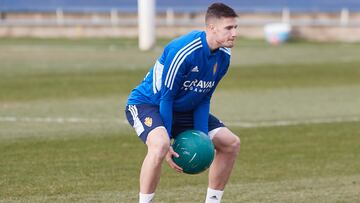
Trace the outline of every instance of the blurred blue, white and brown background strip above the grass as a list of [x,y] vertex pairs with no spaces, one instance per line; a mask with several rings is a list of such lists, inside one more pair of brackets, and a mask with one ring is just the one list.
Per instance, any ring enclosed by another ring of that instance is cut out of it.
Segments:
[[[140,1],[139,1],[140,2]],[[203,28],[214,1],[156,1],[156,36]],[[239,35],[263,38],[269,23],[288,23],[292,37],[321,41],[360,40],[357,0],[225,0],[238,12]],[[136,37],[135,0],[0,0],[0,37]]]

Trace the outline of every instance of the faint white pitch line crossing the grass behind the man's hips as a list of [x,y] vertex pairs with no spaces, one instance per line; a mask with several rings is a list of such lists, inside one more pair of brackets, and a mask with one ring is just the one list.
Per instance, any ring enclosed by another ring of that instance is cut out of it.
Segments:
[[[360,116],[350,117],[333,117],[333,118],[313,118],[304,120],[274,120],[274,121],[226,121],[226,125],[241,127],[241,128],[256,128],[256,127],[272,127],[272,126],[290,126],[302,124],[321,124],[321,123],[343,123],[343,122],[359,122]],[[14,116],[0,116],[0,122],[27,122],[27,123],[118,123],[126,124],[126,120],[121,119],[89,119],[77,117],[14,117]]]

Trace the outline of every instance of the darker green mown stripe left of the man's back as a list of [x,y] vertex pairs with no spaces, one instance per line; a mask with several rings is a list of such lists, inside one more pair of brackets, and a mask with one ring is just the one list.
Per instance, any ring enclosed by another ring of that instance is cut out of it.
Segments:
[[[90,71],[78,73],[44,73],[3,78],[1,100],[67,99],[127,94],[146,71]],[[121,84],[121,85],[119,85]]]

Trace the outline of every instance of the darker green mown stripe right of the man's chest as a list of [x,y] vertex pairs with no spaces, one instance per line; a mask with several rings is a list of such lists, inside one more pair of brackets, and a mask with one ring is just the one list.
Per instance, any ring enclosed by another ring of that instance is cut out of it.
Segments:
[[281,64],[233,68],[225,89],[274,89],[358,85],[359,63]]

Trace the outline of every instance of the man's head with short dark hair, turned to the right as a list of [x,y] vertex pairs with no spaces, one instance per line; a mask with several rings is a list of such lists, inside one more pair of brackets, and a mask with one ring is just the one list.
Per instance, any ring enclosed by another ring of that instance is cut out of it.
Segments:
[[214,3],[208,7],[205,24],[210,48],[234,46],[237,17],[236,12],[223,3]]

